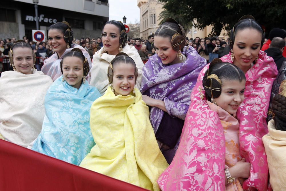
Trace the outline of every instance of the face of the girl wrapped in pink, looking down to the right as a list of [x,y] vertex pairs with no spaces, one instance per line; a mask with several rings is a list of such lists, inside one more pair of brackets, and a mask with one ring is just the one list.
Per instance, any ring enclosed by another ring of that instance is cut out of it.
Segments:
[[244,100],[245,80],[222,80],[221,94],[215,99],[217,105],[230,114],[235,114]]

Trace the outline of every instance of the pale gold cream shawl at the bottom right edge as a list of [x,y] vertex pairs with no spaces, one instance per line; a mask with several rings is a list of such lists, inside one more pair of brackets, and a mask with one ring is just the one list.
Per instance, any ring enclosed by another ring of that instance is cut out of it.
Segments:
[[273,191],[286,190],[286,131],[275,129],[272,119],[268,122],[269,133],[262,137]]

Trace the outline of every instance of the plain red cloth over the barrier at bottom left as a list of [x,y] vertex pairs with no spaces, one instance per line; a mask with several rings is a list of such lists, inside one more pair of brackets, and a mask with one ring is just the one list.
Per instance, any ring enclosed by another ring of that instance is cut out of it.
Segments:
[[0,139],[0,190],[145,190]]

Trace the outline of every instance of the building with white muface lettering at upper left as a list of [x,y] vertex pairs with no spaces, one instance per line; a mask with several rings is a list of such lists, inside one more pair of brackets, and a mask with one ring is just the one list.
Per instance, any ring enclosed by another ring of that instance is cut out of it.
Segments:
[[[2,0],[0,13],[0,39],[27,36],[32,40],[32,29],[36,29],[32,0]],[[70,24],[75,38],[97,38],[109,19],[109,4],[108,0],[39,0],[38,17],[46,38],[48,27],[61,21]]]

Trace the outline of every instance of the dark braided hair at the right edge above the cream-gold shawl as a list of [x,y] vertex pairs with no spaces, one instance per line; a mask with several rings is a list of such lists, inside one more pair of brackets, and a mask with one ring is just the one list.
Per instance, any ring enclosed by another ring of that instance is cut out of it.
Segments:
[[272,100],[272,110],[275,113],[275,129],[286,131],[286,97],[276,94]]

